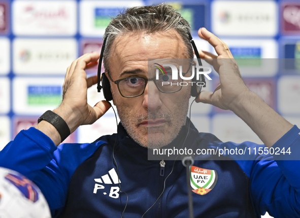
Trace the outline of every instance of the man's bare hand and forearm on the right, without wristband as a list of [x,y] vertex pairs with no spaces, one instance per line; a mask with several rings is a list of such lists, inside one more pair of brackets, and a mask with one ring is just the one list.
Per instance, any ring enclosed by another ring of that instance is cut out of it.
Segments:
[[201,58],[218,72],[220,84],[214,90],[202,91],[196,102],[229,109],[241,117],[267,147],[271,147],[293,125],[263,102],[245,85],[239,67],[227,45],[206,28],[198,31],[199,37],[214,46],[218,56],[200,51]]

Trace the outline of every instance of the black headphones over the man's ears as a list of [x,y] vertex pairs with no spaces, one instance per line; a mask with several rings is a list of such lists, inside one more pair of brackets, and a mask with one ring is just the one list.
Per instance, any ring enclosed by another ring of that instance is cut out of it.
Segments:
[[[189,32],[187,34],[188,34],[188,37],[189,37],[189,41],[190,41],[190,43],[191,43],[191,45],[194,49],[195,55],[197,57],[198,65],[202,66],[200,55],[198,53],[195,42],[193,41],[193,38],[192,38],[191,34]],[[104,41],[103,41],[103,45],[102,45],[101,53],[100,53],[100,58],[99,58],[98,71],[97,71],[97,75],[98,75],[97,90],[98,90],[98,92],[101,92],[101,89],[103,89],[103,95],[104,95],[104,98],[106,99],[106,101],[112,101],[113,100],[113,95],[112,95],[112,92],[111,92],[110,81],[109,81],[109,79],[108,79],[108,77],[106,76],[105,73],[103,73],[102,77],[101,77],[101,67],[102,67],[103,53],[104,53],[104,50],[105,50],[107,38],[108,38],[108,36],[106,36]],[[200,69],[200,72],[203,72],[203,68]],[[102,82],[102,86],[100,85],[100,82]],[[193,84],[195,84],[195,85],[193,85]],[[201,85],[199,85],[199,84],[201,84]],[[206,87],[205,76],[203,74],[200,74],[198,80],[196,79],[196,76],[194,76],[192,78],[191,96],[197,98],[198,95],[201,92],[202,86]]]

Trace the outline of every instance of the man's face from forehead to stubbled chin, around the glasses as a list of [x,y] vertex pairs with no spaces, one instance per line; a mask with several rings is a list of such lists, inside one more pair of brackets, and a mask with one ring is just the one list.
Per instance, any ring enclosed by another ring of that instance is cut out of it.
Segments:
[[[180,35],[170,30],[164,33],[130,33],[115,39],[110,51],[112,79],[148,74],[148,58],[188,58]],[[185,124],[190,98],[190,86],[174,93],[162,93],[153,81],[143,95],[124,98],[116,84],[111,83],[113,101],[129,136],[140,145],[159,148],[172,142]]]

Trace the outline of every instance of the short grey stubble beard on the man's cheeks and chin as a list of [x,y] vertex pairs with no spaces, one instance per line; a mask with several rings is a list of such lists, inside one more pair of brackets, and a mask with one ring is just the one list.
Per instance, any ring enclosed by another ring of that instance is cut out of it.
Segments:
[[[114,92],[112,93],[114,97]],[[118,115],[127,134],[139,145],[155,149],[170,144],[178,136],[186,122],[189,98],[190,89],[186,91],[185,96],[174,102],[174,105],[177,105],[177,110],[173,113],[159,108],[155,111],[148,109],[146,114],[136,114],[130,110],[130,105],[116,101],[116,98],[114,98],[114,103],[117,106]],[[178,107],[178,105],[181,105],[181,107]],[[165,119],[166,125],[163,125],[164,127],[149,128],[148,126],[141,126],[141,123],[148,119]],[[152,136],[149,137],[149,134]]]

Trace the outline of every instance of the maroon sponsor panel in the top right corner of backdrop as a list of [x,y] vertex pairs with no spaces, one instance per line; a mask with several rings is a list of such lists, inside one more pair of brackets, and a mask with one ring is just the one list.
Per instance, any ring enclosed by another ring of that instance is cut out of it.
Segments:
[[300,33],[300,4],[285,3],[282,5],[282,28],[283,33]]

